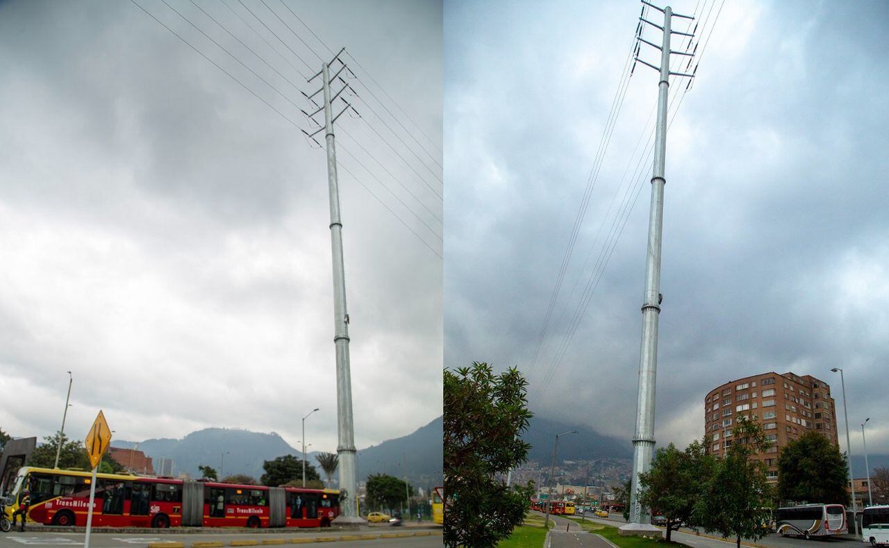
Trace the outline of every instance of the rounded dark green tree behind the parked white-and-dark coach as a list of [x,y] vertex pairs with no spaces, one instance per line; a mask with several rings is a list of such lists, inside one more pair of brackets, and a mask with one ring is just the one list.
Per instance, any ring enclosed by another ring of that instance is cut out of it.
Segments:
[[778,457],[778,498],[849,505],[849,468],[839,447],[817,431],[790,441]]

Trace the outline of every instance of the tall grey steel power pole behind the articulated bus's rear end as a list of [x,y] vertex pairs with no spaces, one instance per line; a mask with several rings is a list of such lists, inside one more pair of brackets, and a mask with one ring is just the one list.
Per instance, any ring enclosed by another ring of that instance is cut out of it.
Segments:
[[[358,522],[358,488],[356,481],[356,448],[355,426],[352,422],[352,375],[348,362],[348,311],[346,310],[346,281],[342,260],[342,221],[340,220],[340,188],[336,173],[336,146],[333,139],[333,123],[352,106],[348,104],[340,94],[349,86],[340,78],[340,73],[346,69],[346,64],[340,60],[340,55],[346,48],[340,49],[331,62],[323,63],[321,71],[309,78],[309,82],[316,77],[321,77],[321,89],[307,95],[309,101],[318,93],[324,94],[324,105],[315,112],[305,114],[312,118],[324,111],[324,126],[315,133],[306,133],[314,138],[316,133],[324,131],[324,141],[327,149],[327,184],[330,191],[331,208],[331,247],[333,255],[333,343],[336,346],[336,399],[337,399],[337,455],[340,457],[337,470],[340,472],[340,494],[345,495],[344,503],[340,504],[342,510],[341,521]],[[338,63],[339,69],[331,76],[331,66]],[[342,86],[336,93],[331,93],[332,82],[342,82]],[[345,107],[339,114],[333,114],[333,102],[337,99],[345,103]],[[354,109],[352,109],[354,110]],[[345,492],[345,493],[343,493]]]

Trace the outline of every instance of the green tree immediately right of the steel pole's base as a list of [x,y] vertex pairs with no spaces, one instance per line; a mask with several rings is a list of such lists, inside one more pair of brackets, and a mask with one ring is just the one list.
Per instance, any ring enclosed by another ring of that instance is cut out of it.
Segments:
[[667,518],[667,542],[680,523],[695,525],[694,504],[716,465],[704,449],[708,443],[694,440],[685,451],[672,443],[661,447],[651,469],[639,474],[639,503]]

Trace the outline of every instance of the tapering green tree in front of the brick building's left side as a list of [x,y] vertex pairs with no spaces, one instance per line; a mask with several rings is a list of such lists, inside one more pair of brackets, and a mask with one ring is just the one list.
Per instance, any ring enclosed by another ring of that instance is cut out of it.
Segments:
[[695,523],[723,538],[733,536],[737,548],[741,548],[741,538],[758,540],[768,533],[764,523],[772,490],[765,479],[765,464],[750,456],[771,444],[757,423],[738,416],[732,445],[724,458],[716,460],[694,505]]

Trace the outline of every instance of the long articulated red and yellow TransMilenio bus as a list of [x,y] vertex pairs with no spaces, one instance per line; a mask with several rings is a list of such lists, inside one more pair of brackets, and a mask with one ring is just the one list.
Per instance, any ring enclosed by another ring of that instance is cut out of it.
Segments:
[[[7,512],[26,488],[28,520],[84,527],[92,472],[23,466]],[[97,474],[93,527],[330,527],[340,515],[339,491],[269,488],[188,479]]]

